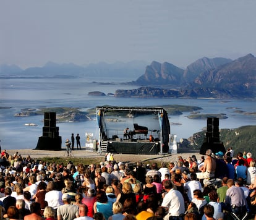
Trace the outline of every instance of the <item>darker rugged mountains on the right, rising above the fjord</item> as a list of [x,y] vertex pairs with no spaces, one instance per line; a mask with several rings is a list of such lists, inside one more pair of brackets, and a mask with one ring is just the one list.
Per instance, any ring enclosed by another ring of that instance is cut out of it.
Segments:
[[[115,96],[176,98],[255,98],[256,57],[248,54],[232,61],[203,57],[185,70],[153,61],[135,82],[137,90],[117,90]],[[147,86],[147,88],[145,88]]]

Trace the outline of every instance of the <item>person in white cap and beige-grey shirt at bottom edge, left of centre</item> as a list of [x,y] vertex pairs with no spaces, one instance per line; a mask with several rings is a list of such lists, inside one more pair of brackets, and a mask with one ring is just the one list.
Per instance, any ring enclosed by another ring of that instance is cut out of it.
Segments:
[[59,208],[57,209],[58,220],[62,220],[62,219],[73,220],[76,217],[79,217],[78,207],[70,204],[71,197],[69,196],[69,194],[64,193],[62,195],[62,201],[64,205],[59,206]]

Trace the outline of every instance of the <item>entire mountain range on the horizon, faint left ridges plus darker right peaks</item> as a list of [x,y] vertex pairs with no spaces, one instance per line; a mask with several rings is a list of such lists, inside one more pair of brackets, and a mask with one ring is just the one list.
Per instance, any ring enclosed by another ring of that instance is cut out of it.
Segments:
[[137,80],[127,82],[142,86],[136,90],[116,90],[114,96],[177,97],[177,98],[255,98],[256,58],[252,54],[236,60],[223,57],[203,57],[186,69],[169,62],[144,61],[106,64],[56,64],[21,69],[18,66],[0,65],[0,78],[111,78],[129,75]]

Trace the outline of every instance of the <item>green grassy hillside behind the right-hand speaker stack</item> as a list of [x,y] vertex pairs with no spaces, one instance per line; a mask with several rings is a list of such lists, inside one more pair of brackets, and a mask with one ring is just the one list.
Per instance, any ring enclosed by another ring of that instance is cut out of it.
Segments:
[[[189,139],[190,147],[200,149],[204,137],[205,132],[195,133],[193,138]],[[226,149],[233,147],[235,154],[247,151],[256,158],[256,125],[242,126],[237,129],[221,129],[220,141]]]

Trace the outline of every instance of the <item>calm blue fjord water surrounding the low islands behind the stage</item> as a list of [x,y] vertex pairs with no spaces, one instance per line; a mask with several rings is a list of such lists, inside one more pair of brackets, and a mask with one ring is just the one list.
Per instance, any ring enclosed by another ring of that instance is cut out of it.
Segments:
[[[107,77],[72,78],[72,79],[1,79],[0,80],[0,140],[2,149],[33,149],[38,137],[42,135],[43,116],[15,117],[21,109],[73,107],[80,111],[96,106],[164,106],[167,104],[182,104],[202,108],[200,113],[224,113],[228,119],[220,120],[220,129],[234,129],[242,125],[256,125],[256,117],[234,112],[236,109],[244,112],[255,112],[255,101],[252,100],[220,100],[220,99],[167,99],[167,98],[115,98],[114,96],[88,96],[89,91],[102,91],[105,94],[114,93],[117,89],[137,88],[132,85],[119,84],[134,79]],[[103,83],[92,83],[103,82]],[[111,83],[107,83],[111,82]],[[10,108],[8,108],[10,107]],[[236,109],[235,109],[236,108]],[[179,116],[170,116],[171,133],[179,138],[188,138],[195,132],[206,127],[207,121],[188,119],[190,112]],[[38,126],[25,126],[34,123]],[[177,125],[181,124],[181,125]],[[143,124],[140,124],[143,125]],[[85,145],[85,132],[98,137],[96,121],[58,123],[62,145],[71,133],[79,133],[81,143]],[[122,129],[122,128],[120,128]]]

